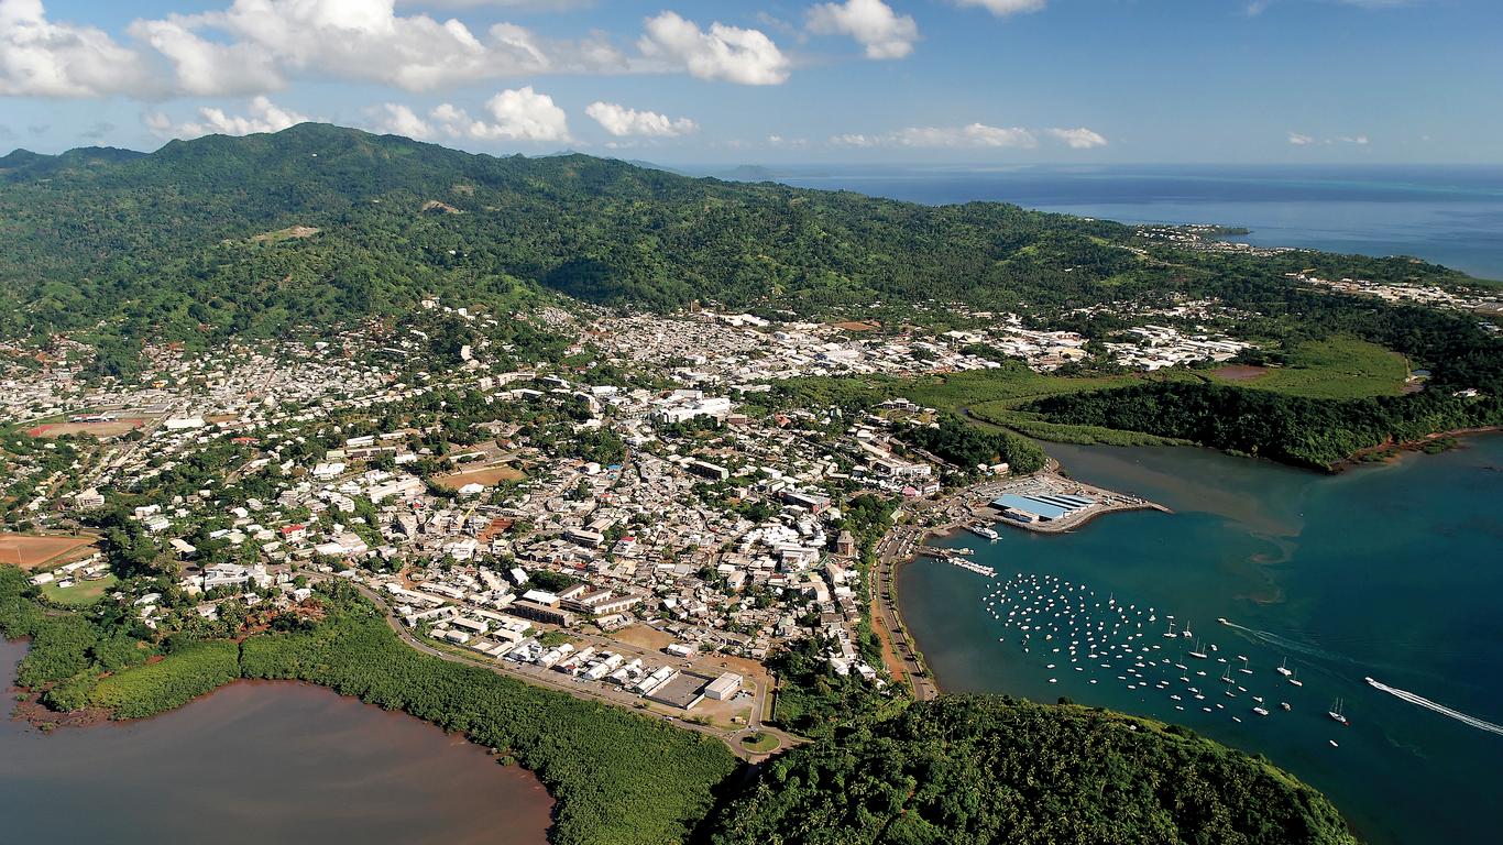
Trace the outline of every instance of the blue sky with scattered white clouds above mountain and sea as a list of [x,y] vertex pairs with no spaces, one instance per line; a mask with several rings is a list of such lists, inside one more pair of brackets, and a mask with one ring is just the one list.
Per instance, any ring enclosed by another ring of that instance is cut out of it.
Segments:
[[0,0],[0,150],[1503,164],[1503,0]]

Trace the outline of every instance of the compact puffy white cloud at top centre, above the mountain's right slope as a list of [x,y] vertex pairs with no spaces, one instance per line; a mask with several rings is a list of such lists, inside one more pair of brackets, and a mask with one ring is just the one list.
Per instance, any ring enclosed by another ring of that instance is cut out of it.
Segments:
[[646,20],[646,33],[637,41],[637,47],[643,56],[679,66],[700,80],[744,86],[782,84],[788,80],[788,59],[762,30],[717,21],[705,32],[694,21],[663,12]]

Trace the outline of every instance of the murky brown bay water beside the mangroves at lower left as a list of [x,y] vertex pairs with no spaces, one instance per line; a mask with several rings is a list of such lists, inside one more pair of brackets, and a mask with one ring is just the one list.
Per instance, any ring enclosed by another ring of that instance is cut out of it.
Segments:
[[[0,641],[0,687],[23,654]],[[543,845],[552,809],[479,746],[308,684],[47,735],[0,720],[0,842]]]

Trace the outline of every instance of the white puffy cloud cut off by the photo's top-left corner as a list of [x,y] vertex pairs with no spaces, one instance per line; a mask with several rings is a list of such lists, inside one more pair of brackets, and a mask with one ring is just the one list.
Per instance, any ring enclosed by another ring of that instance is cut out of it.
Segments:
[[141,56],[104,30],[53,23],[41,0],[0,0],[0,95],[104,96],[149,86]]

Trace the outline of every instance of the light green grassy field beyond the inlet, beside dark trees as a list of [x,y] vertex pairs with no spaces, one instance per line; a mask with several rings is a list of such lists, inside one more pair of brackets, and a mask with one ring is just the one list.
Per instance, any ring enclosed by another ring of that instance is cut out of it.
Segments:
[[1270,367],[1257,377],[1222,377],[1240,388],[1303,395],[1309,398],[1365,398],[1398,395],[1408,377],[1404,356],[1354,337],[1333,337],[1294,349],[1284,367]]

